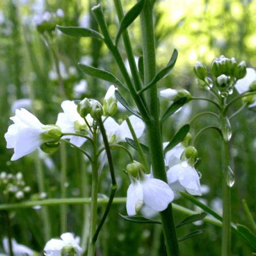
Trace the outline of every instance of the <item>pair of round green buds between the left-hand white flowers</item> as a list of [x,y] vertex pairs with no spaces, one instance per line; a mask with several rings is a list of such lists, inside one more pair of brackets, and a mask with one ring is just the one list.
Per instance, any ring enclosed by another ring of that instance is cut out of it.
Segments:
[[85,118],[86,115],[90,114],[93,119],[99,119],[103,115],[103,109],[100,102],[92,98],[84,98],[77,105],[77,112],[81,115],[82,118]]

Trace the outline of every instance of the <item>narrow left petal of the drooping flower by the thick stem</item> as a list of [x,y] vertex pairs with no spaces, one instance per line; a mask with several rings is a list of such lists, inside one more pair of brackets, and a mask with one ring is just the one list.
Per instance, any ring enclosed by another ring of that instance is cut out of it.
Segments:
[[127,190],[126,210],[129,216],[136,214],[136,204],[143,201],[143,190],[141,183],[131,183]]

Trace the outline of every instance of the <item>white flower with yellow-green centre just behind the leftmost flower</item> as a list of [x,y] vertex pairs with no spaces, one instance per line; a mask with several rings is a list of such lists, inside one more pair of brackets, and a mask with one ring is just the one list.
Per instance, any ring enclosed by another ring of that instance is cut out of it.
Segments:
[[[77,105],[75,102],[63,101],[61,103],[61,108],[63,109],[64,113],[59,113],[56,125],[61,128],[63,133],[89,133],[88,126],[77,112]],[[92,125],[93,118],[89,114],[86,115],[86,120],[88,121],[89,125]],[[73,135],[65,135],[63,138],[70,139],[70,142],[75,144],[77,147],[81,147],[86,141],[85,138]]]

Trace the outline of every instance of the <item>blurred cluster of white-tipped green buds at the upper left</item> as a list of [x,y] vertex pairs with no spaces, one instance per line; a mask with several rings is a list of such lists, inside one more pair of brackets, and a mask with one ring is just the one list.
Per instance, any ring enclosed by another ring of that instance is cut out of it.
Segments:
[[40,33],[52,32],[55,30],[56,24],[61,24],[64,18],[63,10],[58,9],[56,13],[46,11],[42,16],[35,18],[36,28]]

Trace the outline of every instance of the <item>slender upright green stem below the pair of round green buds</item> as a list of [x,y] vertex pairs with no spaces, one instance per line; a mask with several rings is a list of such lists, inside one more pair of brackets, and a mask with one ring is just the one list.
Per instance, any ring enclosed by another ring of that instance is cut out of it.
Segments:
[[94,256],[96,243],[93,236],[97,226],[97,201],[98,201],[98,157],[97,157],[97,129],[93,130],[93,160],[92,160],[92,201],[90,203],[90,232],[88,256]]

